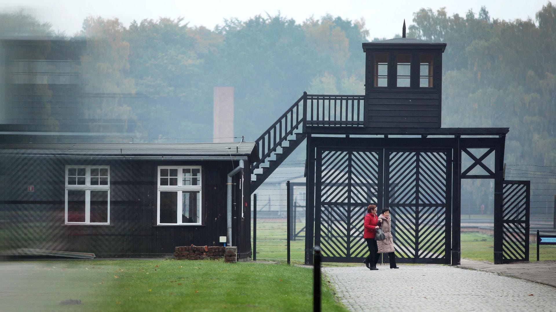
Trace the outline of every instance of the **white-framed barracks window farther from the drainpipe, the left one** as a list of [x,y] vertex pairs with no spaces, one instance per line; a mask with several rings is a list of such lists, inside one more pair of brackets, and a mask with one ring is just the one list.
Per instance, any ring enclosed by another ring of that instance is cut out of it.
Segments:
[[110,166],[66,166],[66,224],[110,224]]

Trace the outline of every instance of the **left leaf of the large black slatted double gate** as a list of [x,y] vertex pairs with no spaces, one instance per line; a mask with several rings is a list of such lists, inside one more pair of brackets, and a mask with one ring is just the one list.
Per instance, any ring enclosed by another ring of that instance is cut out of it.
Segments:
[[383,150],[318,150],[315,243],[323,261],[355,262],[366,253],[363,217],[382,200]]

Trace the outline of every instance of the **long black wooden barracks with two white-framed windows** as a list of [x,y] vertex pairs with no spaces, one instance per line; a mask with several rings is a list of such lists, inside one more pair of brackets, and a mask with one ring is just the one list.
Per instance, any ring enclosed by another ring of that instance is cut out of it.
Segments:
[[249,258],[256,159],[249,142],[0,144],[0,252],[157,256],[224,240]]

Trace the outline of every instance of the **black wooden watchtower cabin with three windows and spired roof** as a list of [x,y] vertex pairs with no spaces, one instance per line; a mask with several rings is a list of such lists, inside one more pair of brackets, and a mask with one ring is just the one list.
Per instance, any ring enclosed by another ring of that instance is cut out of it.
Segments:
[[405,33],[363,43],[365,127],[440,128],[445,49],[445,43],[408,39]]

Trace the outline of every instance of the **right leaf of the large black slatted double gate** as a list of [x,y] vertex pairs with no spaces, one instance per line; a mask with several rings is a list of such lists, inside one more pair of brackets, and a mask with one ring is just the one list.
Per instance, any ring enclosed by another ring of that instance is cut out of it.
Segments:
[[386,150],[384,207],[400,263],[450,263],[451,150]]

